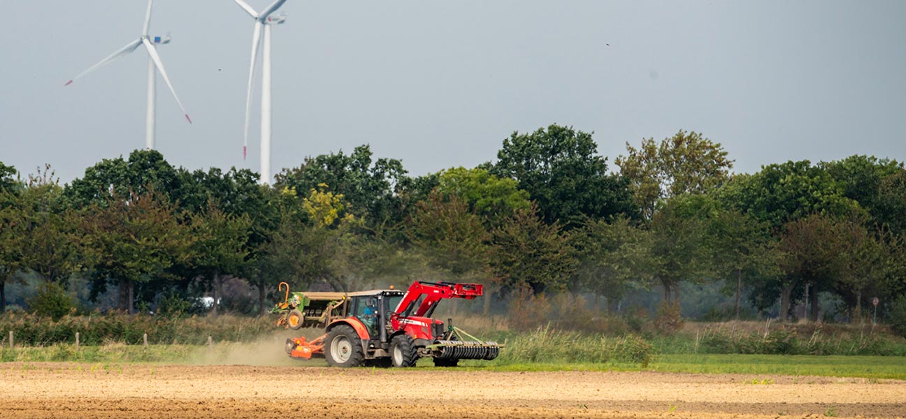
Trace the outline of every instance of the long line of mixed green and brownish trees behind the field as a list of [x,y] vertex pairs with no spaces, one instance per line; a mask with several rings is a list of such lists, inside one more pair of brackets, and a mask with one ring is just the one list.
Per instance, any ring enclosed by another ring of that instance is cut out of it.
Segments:
[[23,178],[0,163],[0,309],[5,285],[25,275],[39,292],[74,278],[92,298],[116,290],[129,312],[217,300],[231,279],[257,290],[259,312],[281,281],[477,281],[496,295],[591,293],[610,309],[651,289],[679,308],[680,283],[720,281],[737,316],[745,296],[781,319],[800,302],[817,319],[828,293],[853,319],[873,298],[906,295],[900,162],[735,174],[718,142],[680,130],[627,143],[614,163],[591,133],[558,125],[514,132],[493,162],[426,176],[368,146],[305,158],[273,186],[247,169],[173,167],[153,150],[101,160],[63,186],[50,167]]

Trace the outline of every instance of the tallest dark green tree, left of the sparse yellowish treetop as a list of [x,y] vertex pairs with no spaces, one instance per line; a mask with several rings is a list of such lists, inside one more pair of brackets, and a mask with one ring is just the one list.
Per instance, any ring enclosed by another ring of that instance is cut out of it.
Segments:
[[609,175],[597,148],[592,134],[558,125],[514,132],[497,152],[492,173],[516,179],[547,224],[559,221],[570,229],[581,225],[583,216],[633,216],[628,179]]

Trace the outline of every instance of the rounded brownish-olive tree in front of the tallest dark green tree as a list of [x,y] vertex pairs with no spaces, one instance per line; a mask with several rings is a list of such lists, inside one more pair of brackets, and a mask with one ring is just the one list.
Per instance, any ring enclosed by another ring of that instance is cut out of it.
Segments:
[[573,250],[560,225],[545,224],[535,205],[516,210],[491,236],[491,269],[506,289],[566,289],[576,267]]

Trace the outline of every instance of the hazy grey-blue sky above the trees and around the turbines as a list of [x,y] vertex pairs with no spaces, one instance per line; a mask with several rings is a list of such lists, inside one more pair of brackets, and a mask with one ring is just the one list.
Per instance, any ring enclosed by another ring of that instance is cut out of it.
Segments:
[[[248,0],[261,10],[269,0]],[[63,87],[141,32],[144,0],[0,0],[0,161],[61,181],[144,147],[147,54]],[[274,28],[272,171],[369,144],[411,175],[493,161],[550,124],[598,151],[680,129],[753,173],[786,160],[906,159],[906,2],[288,0]],[[253,21],[229,0],[157,0],[157,148],[259,170],[242,141]],[[260,74],[260,73],[259,73]],[[257,78],[260,79],[260,78]],[[260,80],[258,80],[260,83]]]

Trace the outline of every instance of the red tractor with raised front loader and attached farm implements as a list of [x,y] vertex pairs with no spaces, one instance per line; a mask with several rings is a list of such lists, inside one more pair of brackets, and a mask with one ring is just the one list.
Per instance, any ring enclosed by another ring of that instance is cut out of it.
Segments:
[[[280,284],[283,290],[285,283]],[[324,357],[333,367],[413,367],[431,357],[436,367],[456,367],[460,359],[491,360],[500,354],[496,342],[483,341],[453,326],[431,319],[439,300],[474,300],[481,284],[412,283],[409,290],[359,292],[293,292],[286,285],[277,325],[289,329],[323,329],[307,340],[286,339],[290,357]]]

